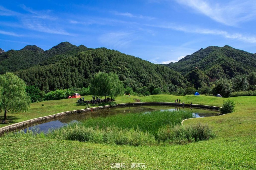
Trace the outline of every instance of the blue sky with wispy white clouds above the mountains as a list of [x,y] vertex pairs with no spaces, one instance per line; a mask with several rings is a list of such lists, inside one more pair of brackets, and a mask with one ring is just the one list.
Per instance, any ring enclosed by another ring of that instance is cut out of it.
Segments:
[[212,45],[256,53],[255,20],[255,0],[3,1],[0,48],[68,41],[170,63]]

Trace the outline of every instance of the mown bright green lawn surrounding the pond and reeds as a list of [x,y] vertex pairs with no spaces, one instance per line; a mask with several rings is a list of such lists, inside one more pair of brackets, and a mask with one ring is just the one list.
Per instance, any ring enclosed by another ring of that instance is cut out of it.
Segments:
[[[180,98],[185,103],[214,106],[221,106],[224,100],[208,96],[169,95],[134,98],[167,102]],[[236,103],[235,112],[184,122],[190,124],[200,121],[212,125],[217,137],[208,141],[189,145],[130,147],[25,136],[6,137],[0,139],[0,169],[112,169],[110,163],[125,163],[127,167],[131,163],[145,163],[146,169],[255,169],[256,97],[230,99]],[[26,118],[29,118],[29,113],[43,116],[60,112],[56,109],[65,111],[84,108],[76,106],[73,101],[75,102],[74,99],[72,102],[65,99],[43,102],[45,108],[41,107],[41,103],[34,103]],[[116,100],[118,103],[129,101],[133,101],[133,96]],[[54,106],[56,104],[60,106]],[[19,114],[14,116],[25,120]]]

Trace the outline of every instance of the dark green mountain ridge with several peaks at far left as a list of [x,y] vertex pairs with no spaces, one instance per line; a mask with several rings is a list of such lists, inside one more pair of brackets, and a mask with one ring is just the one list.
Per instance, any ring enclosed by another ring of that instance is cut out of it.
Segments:
[[0,53],[0,74],[27,69],[37,64],[55,63],[86,50],[88,48],[83,45],[77,47],[69,42],[62,42],[46,51],[35,45],[27,45],[21,50],[9,50]]

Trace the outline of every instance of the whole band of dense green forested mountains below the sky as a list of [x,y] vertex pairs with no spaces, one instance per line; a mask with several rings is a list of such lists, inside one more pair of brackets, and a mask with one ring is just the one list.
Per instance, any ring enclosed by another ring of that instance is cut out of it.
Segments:
[[[116,73],[125,92],[135,95],[188,95],[199,91],[228,97],[254,95],[256,89],[256,55],[230,46],[201,48],[170,64],[153,64],[116,50],[92,49],[68,42],[46,51],[28,45],[0,54],[0,74],[14,72],[26,82],[31,95],[38,90],[47,93],[88,87],[93,75],[100,71]],[[247,90],[253,92],[231,94]],[[39,91],[33,101],[43,98],[44,93]],[[62,92],[63,96],[69,94]]]

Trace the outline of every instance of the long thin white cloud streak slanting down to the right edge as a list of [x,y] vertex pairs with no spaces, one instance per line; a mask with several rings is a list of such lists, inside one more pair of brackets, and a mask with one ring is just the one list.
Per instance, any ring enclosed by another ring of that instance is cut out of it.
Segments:
[[208,34],[208,35],[220,35],[225,38],[229,39],[236,39],[247,43],[256,43],[256,36],[252,35],[243,35],[241,33],[228,33],[227,31],[217,30],[217,29],[204,29],[204,28],[197,28],[197,27],[185,27],[175,25],[173,23],[170,24],[159,24],[159,25],[148,25],[151,27],[158,27],[158,28],[165,28],[165,29],[172,29],[177,31],[183,31],[187,33],[197,33],[197,34]]

